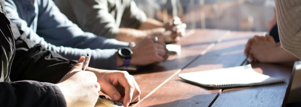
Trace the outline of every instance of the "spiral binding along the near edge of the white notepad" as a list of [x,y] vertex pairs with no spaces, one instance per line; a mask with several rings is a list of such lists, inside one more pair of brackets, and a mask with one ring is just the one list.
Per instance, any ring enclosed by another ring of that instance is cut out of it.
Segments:
[[255,83],[250,83],[250,84],[221,84],[221,85],[213,85],[213,88],[218,89],[218,88],[229,88],[229,87],[245,87],[245,86],[255,86],[255,85],[267,85],[267,84],[273,84],[273,83],[278,83],[278,82],[284,82],[286,80],[285,77],[278,78],[276,80],[265,80],[263,82],[255,82]]

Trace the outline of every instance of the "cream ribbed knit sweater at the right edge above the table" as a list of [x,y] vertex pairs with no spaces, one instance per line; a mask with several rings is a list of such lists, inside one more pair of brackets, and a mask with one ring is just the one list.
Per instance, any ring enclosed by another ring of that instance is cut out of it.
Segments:
[[301,59],[301,0],[275,0],[281,46]]

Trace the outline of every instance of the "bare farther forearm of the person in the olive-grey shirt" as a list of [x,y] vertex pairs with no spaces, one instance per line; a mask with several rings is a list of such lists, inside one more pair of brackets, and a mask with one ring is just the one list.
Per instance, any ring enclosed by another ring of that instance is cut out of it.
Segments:
[[146,22],[142,23],[139,26],[139,30],[147,30],[147,29],[153,29],[153,28],[161,28],[164,24],[158,20],[155,19],[147,19]]

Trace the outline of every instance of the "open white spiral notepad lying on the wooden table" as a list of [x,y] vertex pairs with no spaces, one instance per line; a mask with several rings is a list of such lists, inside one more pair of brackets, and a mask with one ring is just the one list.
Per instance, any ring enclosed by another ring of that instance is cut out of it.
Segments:
[[251,64],[216,70],[181,73],[179,76],[189,82],[214,87],[228,88],[238,86],[265,85],[284,82],[286,78],[275,78],[257,73]]

